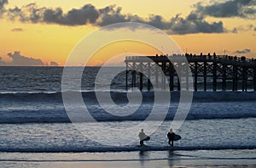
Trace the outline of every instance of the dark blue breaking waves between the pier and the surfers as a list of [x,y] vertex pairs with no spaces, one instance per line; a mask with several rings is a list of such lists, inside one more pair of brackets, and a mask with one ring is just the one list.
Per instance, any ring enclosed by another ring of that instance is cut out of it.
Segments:
[[[107,91],[102,92],[108,93]],[[70,98],[73,98],[73,94],[77,92],[68,93],[70,93]],[[128,103],[127,92],[111,91],[110,93],[115,104],[124,106]],[[129,97],[132,98],[132,92],[129,94]],[[96,92],[81,92],[84,104],[97,121],[145,120],[154,105],[154,92],[142,92],[142,94],[143,102],[136,112],[131,115],[118,116],[108,114],[102,109],[97,102]],[[179,94],[180,92],[171,93],[172,101],[166,120],[173,120],[177,111]],[[254,104],[256,92],[194,92],[193,94],[193,104],[186,120],[256,117],[256,105]],[[161,115],[161,111],[157,112],[152,120],[159,120],[159,115]],[[61,92],[0,93],[0,124],[59,122],[70,122],[63,105]]]

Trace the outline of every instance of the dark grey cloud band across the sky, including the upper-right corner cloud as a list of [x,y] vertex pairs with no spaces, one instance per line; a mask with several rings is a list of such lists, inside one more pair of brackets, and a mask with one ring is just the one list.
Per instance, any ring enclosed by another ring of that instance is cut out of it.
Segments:
[[[8,3],[0,0],[0,8]],[[197,3],[195,9],[186,17],[180,14],[165,20],[160,15],[151,14],[147,19],[136,14],[122,14],[122,8],[110,5],[105,8],[96,8],[92,4],[85,4],[82,8],[73,8],[64,13],[61,8],[39,8],[36,3],[30,3],[22,8],[6,9],[9,20],[21,22],[57,24],[67,26],[95,25],[104,26],[119,22],[139,22],[153,25],[168,34],[195,34],[195,33],[224,33],[222,21],[208,22],[207,16],[212,17],[255,17],[255,1],[230,0],[224,3],[203,4]],[[237,32],[234,29],[233,32]]]

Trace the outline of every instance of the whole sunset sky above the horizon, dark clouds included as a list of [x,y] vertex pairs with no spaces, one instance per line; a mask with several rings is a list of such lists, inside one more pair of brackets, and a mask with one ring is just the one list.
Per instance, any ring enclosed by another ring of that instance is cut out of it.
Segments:
[[[0,0],[0,65],[63,65],[84,36],[124,21],[165,31],[183,52],[225,50],[256,58],[255,0]],[[134,46],[123,42],[119,48]],[[104,54],[117,54],[112,50],[100,52],[102,60],[91,65],[102,64]]]

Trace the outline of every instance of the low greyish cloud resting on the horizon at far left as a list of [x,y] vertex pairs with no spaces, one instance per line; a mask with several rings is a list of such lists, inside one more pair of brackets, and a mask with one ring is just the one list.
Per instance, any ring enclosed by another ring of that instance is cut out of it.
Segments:
[[14,53],[7,54],[12,61],[6,62],[6,65],[14,66],[37,66],[44,65],[44,62],[41,59],[28,58],[26,56],[20,55],[20,52],[15,51]]

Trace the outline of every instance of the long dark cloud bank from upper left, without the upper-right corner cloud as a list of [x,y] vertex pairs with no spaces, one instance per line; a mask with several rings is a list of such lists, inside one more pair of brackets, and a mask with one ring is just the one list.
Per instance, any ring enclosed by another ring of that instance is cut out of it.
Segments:
[[82,8],[73,8],[64,13],[61,8],[39,8],[36,3],[29,3],[22,8],[9,8],[9,20],[21,22],[45,23],[57,25],[96,25],[104,26],[119,22],[140,22],[153,25],[169,34],[191,33],[222,33],[222,21],[207,22],[205,17],[191,12],[183,18],[180,14],[165,20],[160,15],[150,14],[148,18],[141,18],[136,14],[122,14],[122,8],[109,5],[105,8],[96,8],[92,4],[85,4]]

